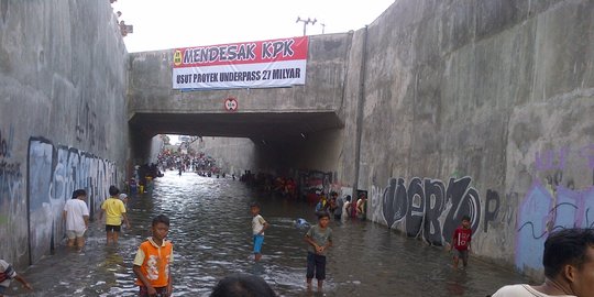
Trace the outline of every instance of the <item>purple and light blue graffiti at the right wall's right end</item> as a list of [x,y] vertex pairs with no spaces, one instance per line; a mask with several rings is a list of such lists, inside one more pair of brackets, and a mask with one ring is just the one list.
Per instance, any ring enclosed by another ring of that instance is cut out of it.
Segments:
[[521,271],[542,266],[542,246],[549,232],[594,227],[594,187],[575,189],[573,179],[563,176],[570,160],[592,172],[594,145],[548,150],[535,156],[535,168],[542,179],[535,178],[517,216],[515,264]]

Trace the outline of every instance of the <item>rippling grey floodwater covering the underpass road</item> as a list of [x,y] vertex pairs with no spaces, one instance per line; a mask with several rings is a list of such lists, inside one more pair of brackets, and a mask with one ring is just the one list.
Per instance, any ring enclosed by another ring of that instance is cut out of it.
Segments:
[[[249,205],[258,201],[266,230],[263,257],[253,262]],[[33,293],[13,282],[10,296],[136,296],[132,261],[150,235],[151,220],[170,218],[174,243],[174,296],[208,296],[218,279],[242,272],[263,277],[279,296],[486,296],[506,284],[526,283],[521,275],[471,255],[469,267],[454,271],[442,248],[407,239],[365,221],[332,221],[334,246],[328,253],[323,290],[308,292],[306,229],[315,223],[314,206],[258,195],[239,180],[167,172],[155,179],[152,195],[129,201],[131,228],[117,246],[106,246],[102,222],[92,222],[87,245],[77,252],[62,245],[22,275]]]

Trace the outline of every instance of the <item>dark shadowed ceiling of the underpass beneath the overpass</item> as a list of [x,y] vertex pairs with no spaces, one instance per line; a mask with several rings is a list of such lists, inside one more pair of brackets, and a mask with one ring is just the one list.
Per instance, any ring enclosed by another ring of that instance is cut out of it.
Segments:
[[343,124],[336,112],[234,112],[135,113],[130,120],[130,125],[146,136],[184,134],[284,142],[307,138],[308,134],[318,131],[339,129]]

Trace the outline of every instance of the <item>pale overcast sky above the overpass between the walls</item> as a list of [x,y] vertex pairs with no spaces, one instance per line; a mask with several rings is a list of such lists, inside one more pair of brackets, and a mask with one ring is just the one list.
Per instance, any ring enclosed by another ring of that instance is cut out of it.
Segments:
[[[349,32],[371,24],[394,0],[117,0],[113,11],[134,26],[128,52]],[[324,24],[322,26],[321,24]]]

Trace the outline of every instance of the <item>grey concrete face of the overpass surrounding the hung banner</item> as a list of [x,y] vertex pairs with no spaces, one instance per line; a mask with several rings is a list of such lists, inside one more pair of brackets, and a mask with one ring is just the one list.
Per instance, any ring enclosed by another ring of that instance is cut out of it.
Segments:
[[173,50],[130,54],[130,117],[133,113],[228,113],[234,97],[241,112],[320,112],[342,103],[349,34],[310,37],[307,84],[292,88],[182,91],[172,88]]

